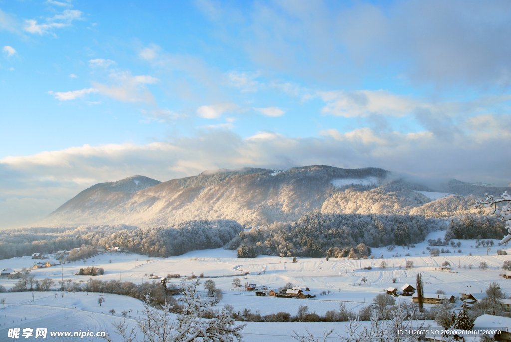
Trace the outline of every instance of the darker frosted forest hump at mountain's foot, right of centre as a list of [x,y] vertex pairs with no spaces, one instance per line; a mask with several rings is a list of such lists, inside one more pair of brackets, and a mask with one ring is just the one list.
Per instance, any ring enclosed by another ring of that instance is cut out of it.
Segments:
[[330,257],[345,257],[353,248],[356,257],[364,257],[370,250],[363,252],[360,244],[409,245],[424,241],[428,232],[440,227],[444,227],[444,221],[418,215],[312,213],[296,222],[243,231],[226,248],[238,248],[239,257],[259,254],[321,257],[327,256],[328,250]]

